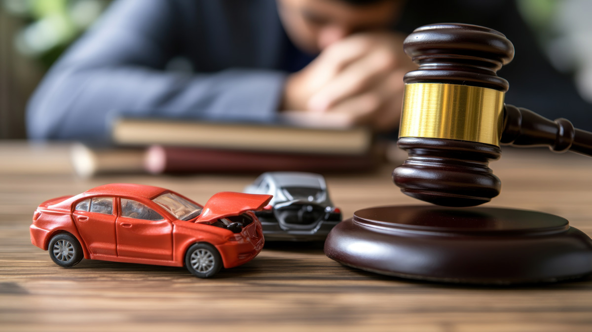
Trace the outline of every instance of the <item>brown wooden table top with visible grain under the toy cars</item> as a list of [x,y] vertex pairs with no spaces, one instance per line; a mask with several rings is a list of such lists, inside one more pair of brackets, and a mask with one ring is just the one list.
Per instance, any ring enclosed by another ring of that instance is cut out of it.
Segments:
[[[30,242],[40,202],[111,182],[146,183],[205,202],[253,175],[72,175],[64,146],[0,142],[0,331],[592,331],[592,278],[475,287],[415,282],[339,265],[322,244],[266,244],[252,262],[198,279],[179,267],[83,260],[55,265]],[[392,184],[394,165],[327,175],[344,215],[418,204]],[[561,215],[592,235],[592,159],[504,150],[491,207]]]

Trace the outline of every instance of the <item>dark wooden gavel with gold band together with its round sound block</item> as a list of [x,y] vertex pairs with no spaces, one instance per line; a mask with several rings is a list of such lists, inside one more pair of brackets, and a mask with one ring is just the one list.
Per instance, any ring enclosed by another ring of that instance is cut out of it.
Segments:
[[392,172],[404,194],[435,205],[374,207],[337,225],[325,253],[385,275],[485,284],[552,282],[592,272],[592,240],[552,214],[473,208],[501,184],[488,167],[500,144],[546,145],[592,154],[592,134],[504,105],[497,76],[514,57],[498,31],[468,24],[416,29],[406,74],[398,146],[408,159]]

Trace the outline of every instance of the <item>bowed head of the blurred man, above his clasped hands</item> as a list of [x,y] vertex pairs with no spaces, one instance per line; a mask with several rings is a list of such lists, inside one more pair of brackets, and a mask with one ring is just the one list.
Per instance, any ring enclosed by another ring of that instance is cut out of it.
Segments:
[[318,53],[343,37],[385,30],[404,0],[277,0],[288,36],[300,49]]

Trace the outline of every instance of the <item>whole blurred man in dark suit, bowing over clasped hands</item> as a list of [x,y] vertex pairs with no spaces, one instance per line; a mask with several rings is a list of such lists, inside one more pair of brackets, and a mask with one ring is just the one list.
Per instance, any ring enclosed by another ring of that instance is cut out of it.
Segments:
[[[442,21],[497,28],[517,54],[532,49],[529,62],[517,59],[522,65],[510,75],[516,81],[502,73],[512,87],[555,75],[512,17],[512,2],[441,2],[117,0],[41,83],[29,105],[28,133],[105,140],[115,117],[271,122],[285,110],[393,130],[403,75],[414,68],[397,30]],[[524,91],[526,105],[520,98],[517,104],[547,115],[537,108],[540,88],[536,95]]]

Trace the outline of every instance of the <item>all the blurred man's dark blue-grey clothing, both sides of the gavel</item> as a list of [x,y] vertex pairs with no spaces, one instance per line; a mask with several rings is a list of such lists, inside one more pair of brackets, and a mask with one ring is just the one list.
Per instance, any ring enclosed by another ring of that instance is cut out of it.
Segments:
[[[411,0],[394,28],[445,21],[513,41],[514,62],[500,70],[507,102],[592,128],[590,106],[540,56],[513,2]],[[271,122],[288,73],[312,59],[287,38],[275,0],[117,0],[38,87],[28,134],[107,140],[111,121],[127,116]]]

